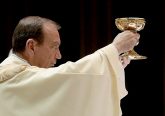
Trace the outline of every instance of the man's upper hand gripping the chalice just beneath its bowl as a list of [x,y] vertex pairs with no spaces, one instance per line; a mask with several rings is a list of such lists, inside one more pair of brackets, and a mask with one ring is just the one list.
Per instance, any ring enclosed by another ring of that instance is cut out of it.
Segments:
[[123,31],[119,33],[112,44],[114,44],[119,52],[119,54],[130,51],[139,42],[140,35],[132,31]]

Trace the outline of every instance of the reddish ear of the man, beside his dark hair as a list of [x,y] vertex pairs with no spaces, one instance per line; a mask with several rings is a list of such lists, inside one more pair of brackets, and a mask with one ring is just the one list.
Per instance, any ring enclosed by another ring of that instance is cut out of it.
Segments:
[[34,55],[35,46],[37,45],[37,42],[34,39],[28,39],[26,41],[26,51],[31,56]]

